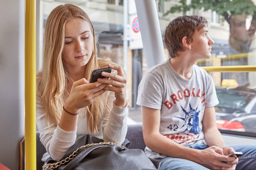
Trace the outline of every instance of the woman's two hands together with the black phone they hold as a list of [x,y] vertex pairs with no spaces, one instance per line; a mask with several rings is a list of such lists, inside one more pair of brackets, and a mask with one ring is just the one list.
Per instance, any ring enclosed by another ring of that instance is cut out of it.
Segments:
[[[111,69],[117,70],[117,74],[112,74]],[[97,69],[91,75],[90,82],[85,78],[73,82],[65,103],[66,109],[77,113],[80,108],[90,105],[96,97],[102,95],[106,90],[115,92],[116,106],[126,106],[126,77],[121,66],[109,64],[109,67]]]

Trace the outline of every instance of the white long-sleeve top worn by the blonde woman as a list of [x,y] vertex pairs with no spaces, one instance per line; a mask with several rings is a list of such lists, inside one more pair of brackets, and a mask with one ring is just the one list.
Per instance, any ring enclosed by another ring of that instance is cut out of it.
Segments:
[[[103,138],[104,141],[121,144],[124,142],[127,132],[128,102],[125,108],[115,106],[113,103],[115,100],[114,93],[106,92],[108,93],[108,104],[113,107],[110,112],[101,110],[104,114],[99,134],[92,135]],[[60,160],[77,139],[88,134],[85,115],[86,108],[80,109],[77,129],[75,131],[63,131],[59,125],[54,124],[53,121],[50,121],[48,125],[44,106],[41,102],[41,96],[37,95],[37,127],[40,132],[40,141],[47,151],[42,161],[45,162],[49,156],[55,160]]]

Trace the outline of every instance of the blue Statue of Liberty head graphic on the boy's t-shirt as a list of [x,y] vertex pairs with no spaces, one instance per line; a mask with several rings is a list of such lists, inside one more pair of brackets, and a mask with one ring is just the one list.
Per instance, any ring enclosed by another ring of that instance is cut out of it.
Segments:
[[190,133],[193,133],[196,135],[201,131],[201,128],[199,127],[199,117],[198,117],[200,110],[197,111],[197,108],[193,109],[190,104],[189,104],[189,107],[190,107],[190,110],[187,112],[181,106],[183,112],[185,113],[185,117],[177,117],[177,118],[182,119],[185,122],[181,128],[183,128],[184,126],[185,127],[187,126],[183,132],[189,131]]

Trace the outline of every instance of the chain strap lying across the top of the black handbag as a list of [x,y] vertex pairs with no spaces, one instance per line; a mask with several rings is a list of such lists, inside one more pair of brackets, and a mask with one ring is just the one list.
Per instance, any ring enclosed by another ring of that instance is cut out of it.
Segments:
[[[61,161],[56,162],[56,163],[48,163],[48,164],[44,165],[43,170],[52,170],[52,169],[55,169],[55,168],[65,164],[65,163],[68,163],[75,156],[77,156],[78,149],[88,148],[88,147],[97,146],[97,145],[118,145],[118,144],[115,143],[115,142],[99,142],[99,143],[91,143],[91,144],[81,146],[80,148],[77,148],[71,155],[69,155],[65,159],[62,159]],[[127,149],[124,145],[118,145],[118,146],[121,146],[121,148],[124,149],[124,150]]]

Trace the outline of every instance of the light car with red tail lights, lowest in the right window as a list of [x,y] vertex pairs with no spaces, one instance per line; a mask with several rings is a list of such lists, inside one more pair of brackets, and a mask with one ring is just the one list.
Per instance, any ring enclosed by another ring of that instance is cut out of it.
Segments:
[[256,133],[256,113],[231,120],[216,120],[218,129]]

